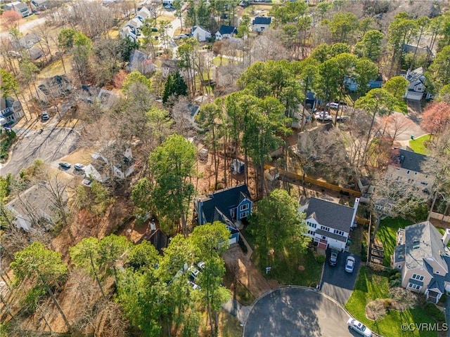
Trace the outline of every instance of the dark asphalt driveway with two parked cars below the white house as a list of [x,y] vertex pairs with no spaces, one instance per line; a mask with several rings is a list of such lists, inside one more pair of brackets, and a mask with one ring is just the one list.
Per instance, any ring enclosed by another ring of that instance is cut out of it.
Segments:
[[335,298],[340,304],[345,305],[354,289],[354,282],[358,275],[359,265],[361,264],[361,258],[354,256],[356,263],[352,274],[345,271],[345,259],[350,253],[343,252],[338,255],[338,263],[335,267],[328,265],[328,258],[330,257],[330,249],[326,251],[326,263],[323,270],[323,278],[321,284],[321,291],[328,296]]

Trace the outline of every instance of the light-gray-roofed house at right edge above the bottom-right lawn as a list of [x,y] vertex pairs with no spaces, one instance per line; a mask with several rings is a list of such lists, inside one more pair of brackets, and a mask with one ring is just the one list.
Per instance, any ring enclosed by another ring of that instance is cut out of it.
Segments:
[[392,267],[400,272],[401,286],[424,293],[432,303],[449,292],[449,239],[449,230],[442,237],[430,221],[400,228]]

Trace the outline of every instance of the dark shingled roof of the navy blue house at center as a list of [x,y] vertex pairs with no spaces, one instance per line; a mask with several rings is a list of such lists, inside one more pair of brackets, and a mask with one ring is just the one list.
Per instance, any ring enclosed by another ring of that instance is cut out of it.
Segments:
[[[229,209],[238,206],[241,193],[250,199],[250,192],[248,192],[247,185],[238,185],[235,187],[229,187],[224,190],[216,191],[209,196],[203,196],[203,213],[207,223],[213,223],[214,220],[219,220],[216,214],[216,208],[224,213],[226,216],[230,216]],[[214,216],[215,215],[215,216]]]

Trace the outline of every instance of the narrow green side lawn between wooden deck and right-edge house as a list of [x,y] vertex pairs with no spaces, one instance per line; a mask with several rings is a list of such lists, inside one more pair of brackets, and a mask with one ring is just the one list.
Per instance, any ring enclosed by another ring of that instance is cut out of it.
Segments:
[[397,245],[397,230],[412,224],[412,221],[401,218],[385,218],[381,220],[376,239],[383,243],[385,249],[383,265],[386,267],[390,267],[390,256],[394,253],[395,246]]

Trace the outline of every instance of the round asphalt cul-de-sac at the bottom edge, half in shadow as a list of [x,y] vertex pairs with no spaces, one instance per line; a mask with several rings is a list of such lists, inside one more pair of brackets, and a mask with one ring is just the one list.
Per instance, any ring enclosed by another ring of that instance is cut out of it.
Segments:
[[335,300],[304,287],[283,287],[259,298],[243,337],[345,337],[349,315]]

